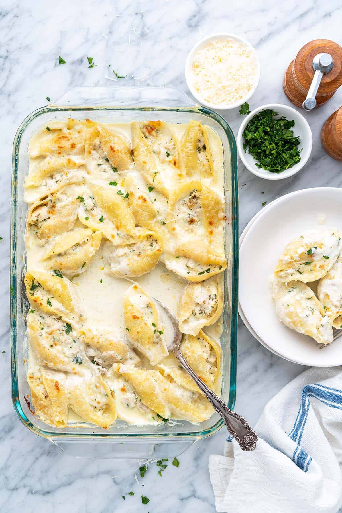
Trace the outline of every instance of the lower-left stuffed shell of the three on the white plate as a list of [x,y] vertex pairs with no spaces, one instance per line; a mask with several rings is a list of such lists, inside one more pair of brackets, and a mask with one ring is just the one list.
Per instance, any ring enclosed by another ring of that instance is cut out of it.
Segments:
[[329,315],[314,292],[303,282],[271,280],[278,318],[285,326],[312,337],[319,344],[332,342]]

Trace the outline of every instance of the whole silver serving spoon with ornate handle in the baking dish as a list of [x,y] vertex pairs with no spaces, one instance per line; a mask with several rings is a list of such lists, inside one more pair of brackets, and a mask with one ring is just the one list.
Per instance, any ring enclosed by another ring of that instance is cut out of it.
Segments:
[[224,401],[216,396],[216,394],[200,378],[198,378],[197,374],[192,370],[184,358],[182,351],[179,349],[179,345],[182,342],[183,333],[179,330],[177,319],[170,312],[170,310],[165,305],[163,305],[163,303],[160,303],[160,301],[155,298],[153,298],[153,300],[159,307],[159,311],[162,313],[162,317],[166,316],[173,328],[174,336],[173,340],[167,344],[168,350],[174,352],[180,365],[182,365],[183,369],[194,380],[198,388],[202,390],[208,401],[213,406],[214,410],[217,411],[217,413],[223,418],[230,435],[236,440],[242,450],[254,450],[258,440],[257,434],[248,425],[246,419],[228,408]]

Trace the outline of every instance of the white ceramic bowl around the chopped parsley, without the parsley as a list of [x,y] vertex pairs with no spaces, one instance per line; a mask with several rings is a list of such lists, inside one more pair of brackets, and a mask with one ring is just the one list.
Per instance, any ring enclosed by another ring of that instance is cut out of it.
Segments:
[[[272,173],[271,171],[266,171],[262,168],[257,168],[255,165],[255,160],[252,155],[248,153],[248,147],[245,152],[243,148],[243,132],[247,126],[247,123],[258,114],[261,110],[274,110],[279,114],[279,116],[286,117],[287,120],[294,120],[293,135],[299,135],[300,144],[298,149],[300,152],[300,161],[298,164],[290,167],[289,169],[285,169],[281,173]],[[244,166],[247,167],[251,171],[251,173],[256,174],[260,178],[266,178],[267,180],[281,180],[283,178],[288,178],[293,174],[296,174],[305,164],[308,162],[309,156],[312,150],[312,133],[309,123],[305,119],[303,115],[300,114],[297,110],[292,107],[288,107],[287,105],[282,105],[280,103],[270,103],[268,105],[262,105],[257,109],[254,109],[248,116],[245,117],[244,121],[240,125],[239,131],[237,133],[237,151],[240,159],[242,160]]]

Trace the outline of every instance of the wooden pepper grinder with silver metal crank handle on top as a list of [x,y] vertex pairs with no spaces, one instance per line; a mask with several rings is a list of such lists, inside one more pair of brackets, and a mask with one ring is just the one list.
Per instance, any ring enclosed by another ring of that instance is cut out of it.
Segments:
[[304,45],[283,80],[290,102],[305,110],[326,103],[341,84],[342,48],[329,39],[316,39]]

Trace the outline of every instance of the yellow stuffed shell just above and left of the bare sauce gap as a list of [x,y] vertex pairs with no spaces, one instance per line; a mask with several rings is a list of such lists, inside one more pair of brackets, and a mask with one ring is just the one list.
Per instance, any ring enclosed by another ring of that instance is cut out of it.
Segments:
[[59,269],[67,277],[84,272],[100,247],[102,233],[90,228],[69,231],[51,241],[43,260],[50,269]]

